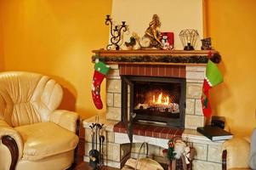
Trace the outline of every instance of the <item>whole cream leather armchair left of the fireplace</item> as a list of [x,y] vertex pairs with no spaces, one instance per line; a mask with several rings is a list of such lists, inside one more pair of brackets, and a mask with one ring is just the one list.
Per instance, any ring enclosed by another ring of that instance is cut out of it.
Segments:
[[0,73],[0,170],[71,167],[78,115],[56,108],[62,88],[37,73]]

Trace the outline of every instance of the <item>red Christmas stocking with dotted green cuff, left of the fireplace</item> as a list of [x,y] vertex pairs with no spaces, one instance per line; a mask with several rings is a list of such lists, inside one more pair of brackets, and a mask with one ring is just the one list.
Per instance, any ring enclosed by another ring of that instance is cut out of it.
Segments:
[[100,99],[100,84],[104,80],[109,70],[110,65],[105,65],[105,63],[101,62],[99,59],[95,60],[92,96],[94,99],[94,105],[99,110],[103,107],[102,101]]

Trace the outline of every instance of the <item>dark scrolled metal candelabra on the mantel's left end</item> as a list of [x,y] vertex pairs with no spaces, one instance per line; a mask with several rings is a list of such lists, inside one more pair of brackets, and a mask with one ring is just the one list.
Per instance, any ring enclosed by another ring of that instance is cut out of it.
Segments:
[[125,32],[128,30],[127,25],[125,24],[125,21],[122,21],[122,25],[120,26],[114,26],[111,20],[111,15],[107,14],[105,19],[105,25],[109,26],[111,25],[111,43],[106,46],[107,50],[111,49],[111,46],[114,45],[116,47],[116,50],[120,49],[120,40],[122,37],[122,32]]

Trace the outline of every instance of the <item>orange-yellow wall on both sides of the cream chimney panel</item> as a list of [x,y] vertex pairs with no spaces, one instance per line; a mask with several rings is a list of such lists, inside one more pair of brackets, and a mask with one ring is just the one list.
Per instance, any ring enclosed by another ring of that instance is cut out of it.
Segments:
[[[213,112],[226,117],[233,133],[248,135],[256,127],[256,1],[205,1],[205,32],[222,55],[225,78],[211,90]],[[90,89],[91,50],[108,42],[105,14],[111,14],[111,0],[0,1],[0,71],[47,74],[65,89],[61,108],[82,118],[103,113],[94,108]]]

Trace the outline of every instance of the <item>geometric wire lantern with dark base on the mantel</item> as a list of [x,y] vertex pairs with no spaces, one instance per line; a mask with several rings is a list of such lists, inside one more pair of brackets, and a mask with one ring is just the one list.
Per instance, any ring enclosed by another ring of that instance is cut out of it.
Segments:
[[184,50],[194,50],[199,34],[194,29],[186,29],[179,32],[179,38]]

